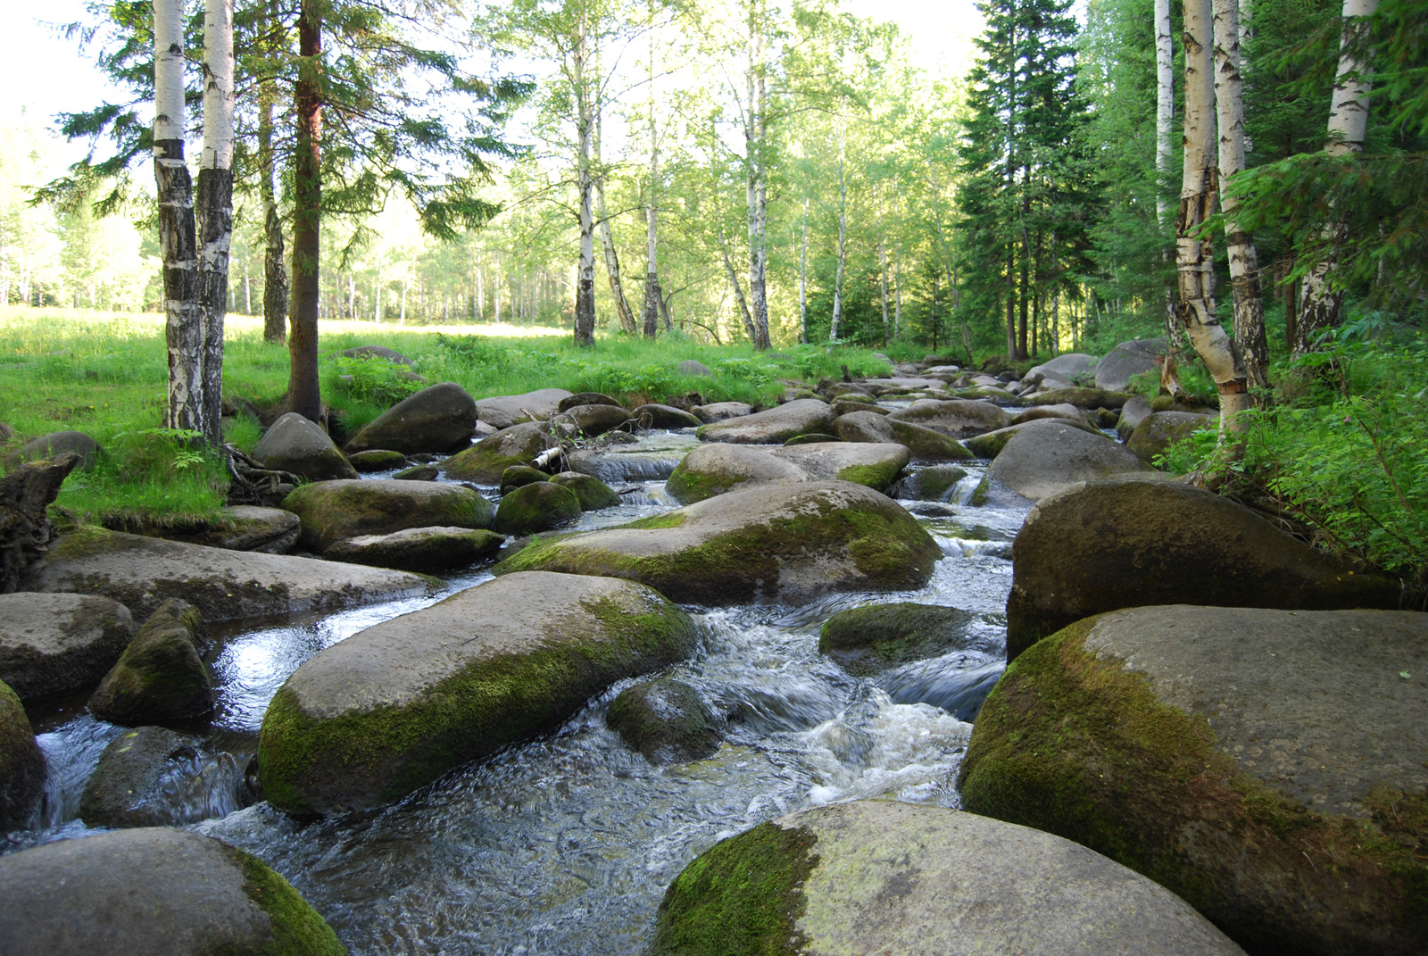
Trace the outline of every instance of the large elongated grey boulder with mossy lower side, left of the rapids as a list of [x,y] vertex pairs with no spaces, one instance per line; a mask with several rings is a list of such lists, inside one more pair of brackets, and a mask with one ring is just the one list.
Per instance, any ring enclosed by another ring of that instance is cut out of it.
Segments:
[[307,660],[258,735],[263,793],[297,815],[396,800],[687,657],[688,614],[611,577],[510,574]]

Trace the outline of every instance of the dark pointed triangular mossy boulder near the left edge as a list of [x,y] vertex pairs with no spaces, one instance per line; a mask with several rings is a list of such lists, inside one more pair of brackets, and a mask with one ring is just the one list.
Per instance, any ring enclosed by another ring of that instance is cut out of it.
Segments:
[[90,713],[131,727],[210,713],[213,677],[198,653],[206,637],[198,609],[170,597],[94,689]]

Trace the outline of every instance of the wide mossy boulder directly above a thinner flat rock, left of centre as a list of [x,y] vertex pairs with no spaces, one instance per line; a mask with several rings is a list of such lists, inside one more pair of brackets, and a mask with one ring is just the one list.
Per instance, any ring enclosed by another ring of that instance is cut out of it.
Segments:
[[490,502],[460,484],[390,479],[304,484],[283,507],[301,519],[300,540],[316,552],[347,537],[408,527],[490,527],[494,512]]

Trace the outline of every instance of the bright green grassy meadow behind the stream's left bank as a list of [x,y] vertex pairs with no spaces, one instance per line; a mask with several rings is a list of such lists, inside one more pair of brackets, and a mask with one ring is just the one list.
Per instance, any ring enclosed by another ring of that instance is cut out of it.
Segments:
[[[653,343],[605,334],[594,349],[577,349],[568,330],[518,326],[324,322],[320,333],[323,402],[338,443],[423,387],[404,379],[400,366],[337,354],[363,344],[394,349],[427,382],[456,382],[477,399],[561,387],[604,392],[627,407],[688,393],[767,406],[784,380],[837,377],[844,364],[853,374],[887,369],[863,349],[791,346],[760,354],[747,344],[708,346],[678,333]],[[283,403],[287,349],[263,342],[261,319],[248,316],[228,316],[226,339],[224,406],[237,413],[224,427],[233,444],[251,450],[261,426],[250,409],[264,413]],[[900,359],[912,352],[921,356],[912,346],[890,350]],[[678,374],[684,359],[714,374]],[[0,459],[41,434],[84,432],[103,454],[90,472],[66,480],[56,502],[61,519],[203,522],[223,506],[227,473],[216,456],[161,427],[167,376],[163,316],[0,307],[0,422],[14,429]]]

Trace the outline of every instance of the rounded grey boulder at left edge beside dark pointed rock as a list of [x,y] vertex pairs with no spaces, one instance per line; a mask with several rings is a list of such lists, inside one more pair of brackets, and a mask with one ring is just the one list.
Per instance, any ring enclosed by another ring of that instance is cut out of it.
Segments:
[[0,680],[34,700],[90,687],[134,636],[134,619],[97,594],[0,594]]

